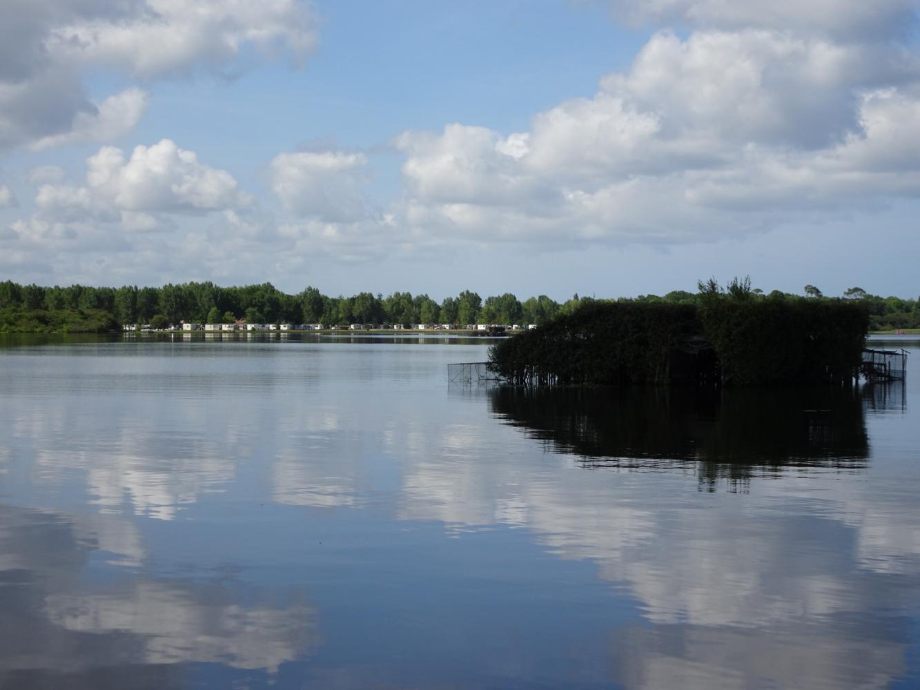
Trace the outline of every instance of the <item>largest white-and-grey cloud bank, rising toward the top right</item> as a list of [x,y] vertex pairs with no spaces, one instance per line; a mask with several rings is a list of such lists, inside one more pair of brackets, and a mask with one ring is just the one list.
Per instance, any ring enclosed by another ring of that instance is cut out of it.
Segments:
[[847,2],[779,5],[792,29],[760,3],[615,3],[696,30],[656,32],[526,132],[403,132],[400,217],[445,242],[658,243],[916,197],[920,61],[896,20],[912,5],[854,5],[852,26]]

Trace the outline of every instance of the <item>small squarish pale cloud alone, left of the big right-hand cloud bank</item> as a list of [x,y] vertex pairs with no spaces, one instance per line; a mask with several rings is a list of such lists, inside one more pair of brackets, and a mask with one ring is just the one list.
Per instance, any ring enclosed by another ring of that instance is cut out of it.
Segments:
[[366,215],[362,184],[367,157],[339,151],[279,154],[271,161],[271,189],[285,209],[328,222]]

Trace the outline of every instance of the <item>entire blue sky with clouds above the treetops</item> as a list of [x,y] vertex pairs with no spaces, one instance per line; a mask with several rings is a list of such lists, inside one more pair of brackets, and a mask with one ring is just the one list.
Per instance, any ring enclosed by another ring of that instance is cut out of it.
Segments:
[[0,280],[920,293],[914,0],[0,8]]

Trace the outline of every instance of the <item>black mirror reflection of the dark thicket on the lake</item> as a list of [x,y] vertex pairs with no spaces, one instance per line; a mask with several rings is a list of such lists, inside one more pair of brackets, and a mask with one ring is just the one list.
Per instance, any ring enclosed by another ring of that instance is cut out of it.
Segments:
[[[865,389],[878,404],[879,396]],[[695,470],[700,490],[745,490],[784,468],[866,466],[866,393],[838,387],[715,389],[500,386],[490,410],[586,467]]]

